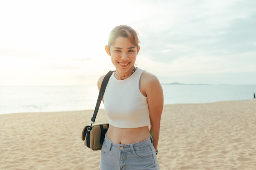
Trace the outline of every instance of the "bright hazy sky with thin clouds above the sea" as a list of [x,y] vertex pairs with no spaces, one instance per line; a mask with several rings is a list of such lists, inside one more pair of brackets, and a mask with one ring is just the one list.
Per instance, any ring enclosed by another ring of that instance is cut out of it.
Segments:
[[0,0],[0,86],[96,86],[122,24],[160,83],[256,84],[255,0]]

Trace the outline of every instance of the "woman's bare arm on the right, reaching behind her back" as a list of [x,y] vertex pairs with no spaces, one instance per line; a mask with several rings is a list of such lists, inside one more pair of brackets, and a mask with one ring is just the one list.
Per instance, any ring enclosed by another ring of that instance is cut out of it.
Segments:
[[164,94],[157,77],[148,72],[141,75],[141,93],[147,97],[150,116],[150,134],[157,150],[160,132],[160,122],[164,106]]

